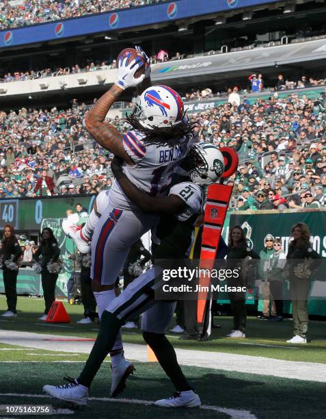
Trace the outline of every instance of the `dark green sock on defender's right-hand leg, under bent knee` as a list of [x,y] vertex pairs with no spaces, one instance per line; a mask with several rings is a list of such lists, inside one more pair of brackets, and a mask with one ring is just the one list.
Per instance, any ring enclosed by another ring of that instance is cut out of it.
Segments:
[[189,385],[185,375],[176,359],[176,352],[174,347],[167,340],[163,333],[143,332],[145,342],[150,346],[154,352],[159,364],[163,368],[167,377],[172,381],[174,387],[178,392],[187,392],[193,390]]

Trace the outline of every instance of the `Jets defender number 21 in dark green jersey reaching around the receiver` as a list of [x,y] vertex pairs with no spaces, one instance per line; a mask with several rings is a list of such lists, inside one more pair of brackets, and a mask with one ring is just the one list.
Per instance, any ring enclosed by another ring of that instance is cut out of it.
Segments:
[[[222,175],[223,156],[213,144],[195,144],[191,157],[194,162],[199,163],[197,170],[192,173],[192,179],[196,183],[208,185],[217,181]],[[202,212],[204,196],[201,188],[193,182],[182,182],[173,186],[168,196],[152,198],[135,188],[116,166],[114,173],[124,193],[143,212],[161,214],[161,221],[157,226],[157,237],[160,242],[153,251],[154,259],[159,263],[159,259],[185,258],[191,246],[195,220]],[[153,267],[135,279],[120,296],[111,301],[103,312],[98,337],[79,378],[67,377],[67,381],[70,382],[66,385],[45,385],[43,389],[46,394],[77,405],[85,405],[92,380],[111,351],[121,325],[129,316],[145,312],[142,317],[144,339],[176,387],[174,396],[157,401],[156,404],[165,407],[200,405],[199,396],[182,374],[174,348],[165,337],[165,329],[173,316],[175,303],[154,300],[154,290],[158,286],[157,281],[161,279],[161,272],[160,266]]]

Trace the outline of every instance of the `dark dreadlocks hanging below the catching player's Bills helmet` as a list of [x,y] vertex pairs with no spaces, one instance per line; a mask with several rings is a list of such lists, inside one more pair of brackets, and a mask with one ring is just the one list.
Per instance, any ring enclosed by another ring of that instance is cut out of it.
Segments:
[[[185,114],[186,112],[182,115],[182,120]],[[179,140],[182,137],[186,137],[189,140],[193,134],[193,129],[199,125],[197,122],[187,121],[187,123],[171,124],[169,127],[159,128],[152,126],[152,129],[148,129],[139,123],[139,120],[135,118],[133,113],[126,115],[126,121],[133,129],[146,136],[146,142],[148,144],[167,144],[169,146],[179,144]]]

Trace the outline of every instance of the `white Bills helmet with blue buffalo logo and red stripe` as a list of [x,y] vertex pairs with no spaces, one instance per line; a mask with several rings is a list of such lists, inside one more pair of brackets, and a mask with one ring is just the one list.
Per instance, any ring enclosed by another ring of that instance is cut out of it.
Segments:
[[136,98],[133,115],[139,123],[153,129],[170,127],[182,122],[182,99],[168,86],[151,86]]

